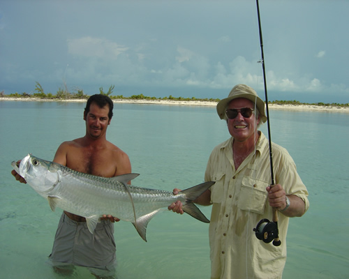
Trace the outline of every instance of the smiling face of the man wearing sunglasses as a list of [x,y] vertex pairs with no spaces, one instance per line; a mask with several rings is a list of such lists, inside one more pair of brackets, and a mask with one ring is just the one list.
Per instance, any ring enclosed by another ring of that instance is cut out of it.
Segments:
[[[237,109],[240,110],[244,107],[249,107],[252,110],[255,109],[255,105],[251,100],[245,98],[237,98],[232,100],[227,110]],[[237,113],[237,116],[234,119],[228,119],[228,130],[230,135],[235,138],[238,142],[245,142],[246,140],[253,140],[251,137],[258,126],[260,119],[255,118],[255,114],[252,114],[250,117],[242,116],[241,112]]]

